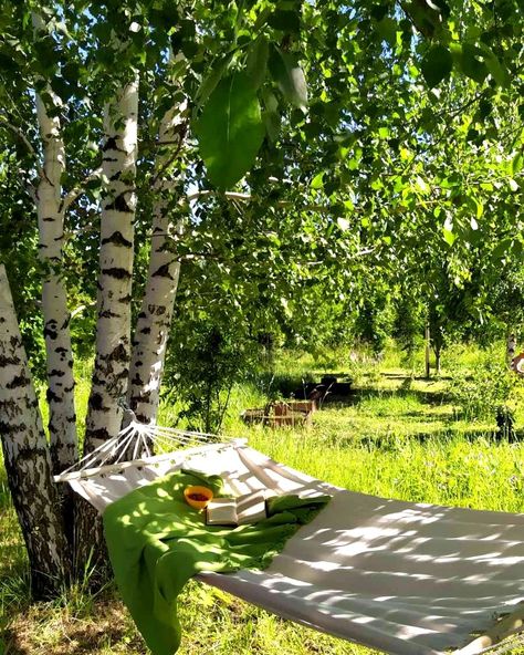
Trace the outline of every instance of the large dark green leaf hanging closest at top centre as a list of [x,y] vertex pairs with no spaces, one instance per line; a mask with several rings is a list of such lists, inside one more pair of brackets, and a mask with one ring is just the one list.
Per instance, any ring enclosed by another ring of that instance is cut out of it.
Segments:
[[245,73],[221,80],[195,125],[209,179],[218,187],[234,185],[253,165],[264,126],[256,92]]

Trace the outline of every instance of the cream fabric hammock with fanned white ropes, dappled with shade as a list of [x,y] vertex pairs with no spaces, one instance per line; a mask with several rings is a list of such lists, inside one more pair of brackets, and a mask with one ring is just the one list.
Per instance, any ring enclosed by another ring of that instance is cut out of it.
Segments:
[[[331,503],[264,571],[198,579],[285,618],[398,655],[475,655],[523,630],[524,514],[356,493],[277,464],[245,439],[211,439],[132,423],[55,479],[101,512],[182,467],[221,476],[233,495],[264,488],[328,493]],[[151,455],[151,440],[171,451]],[[185,448],[172,451],[174,444]],[[118,461],[129,448],[133,459]]]

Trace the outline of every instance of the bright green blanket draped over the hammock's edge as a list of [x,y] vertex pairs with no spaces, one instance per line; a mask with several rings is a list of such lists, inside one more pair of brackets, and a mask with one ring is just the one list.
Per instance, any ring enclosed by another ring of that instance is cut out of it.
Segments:
[[328,502],[328,496],[281,496],[269,518],[239,528],[209,527],[189,507],[184,489],[205,485],[222,495],[222,480],[180,470],[130,491],[104,512],[104,532],[122,597],[154,655],[180,644],[177,596],[201,571],[264,569],[285,541]]

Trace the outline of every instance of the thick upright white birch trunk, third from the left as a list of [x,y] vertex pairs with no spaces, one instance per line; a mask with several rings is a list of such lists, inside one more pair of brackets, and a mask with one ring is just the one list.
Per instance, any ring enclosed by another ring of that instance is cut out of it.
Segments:
[[105,107],[104,200],[96,323],[96,358],[86,419],[87,449],[118,434],[130,358],[133,240],[136,209],[138,79]]

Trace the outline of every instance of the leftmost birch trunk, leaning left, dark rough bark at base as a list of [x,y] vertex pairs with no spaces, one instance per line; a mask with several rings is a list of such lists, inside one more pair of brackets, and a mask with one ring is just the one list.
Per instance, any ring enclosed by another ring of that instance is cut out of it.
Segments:
[[56,592],[69,572],[51,458],[6,268],[0,264],[0,435],[9,488],[29,553],[36,597]]

